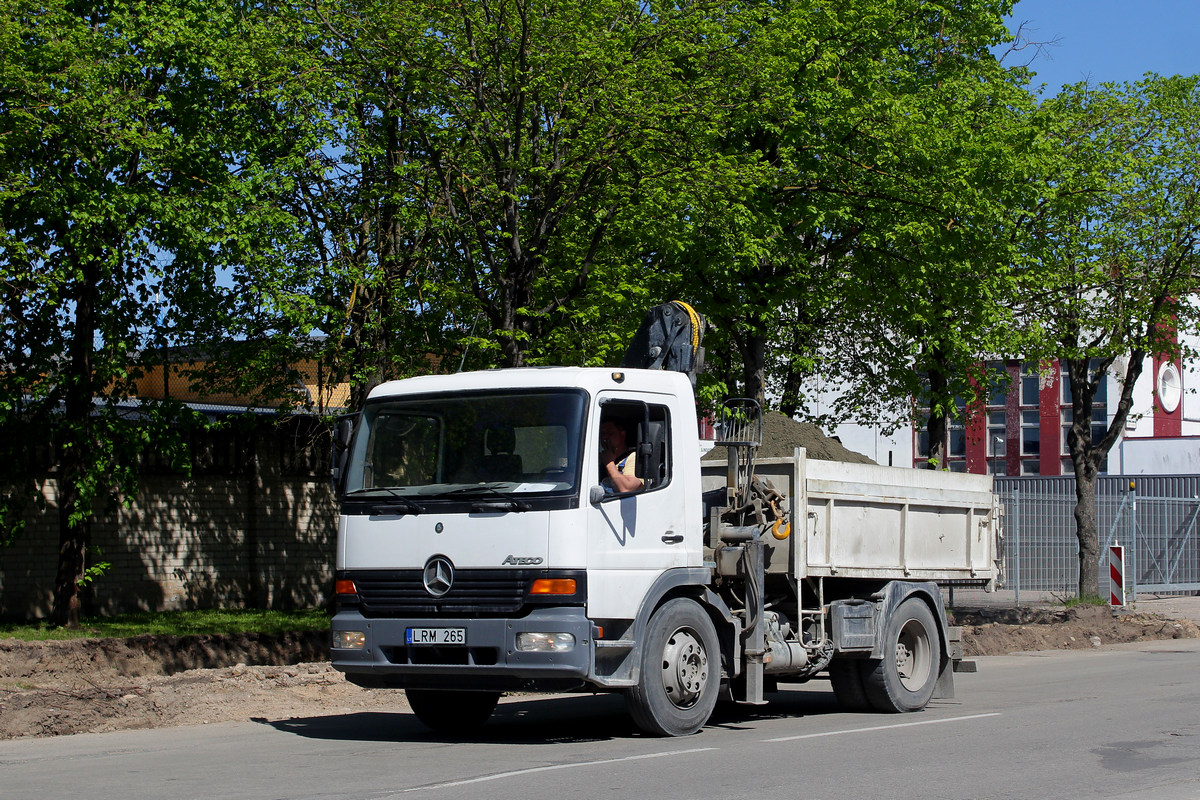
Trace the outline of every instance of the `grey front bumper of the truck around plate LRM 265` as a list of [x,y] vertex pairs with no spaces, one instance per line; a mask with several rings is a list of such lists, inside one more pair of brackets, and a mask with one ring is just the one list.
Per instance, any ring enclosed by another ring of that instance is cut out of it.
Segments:
[[[412,627],[466,628],[466,645],[410,645]],[[520,619],[370,619],[358,610],[334,616],[332,630],[361,631],[359,650],[332,649],[334,668],[368,688],[563,691],[582,687],[592,668],[593,626],[582,608],[539,608]],[[518,633],[570,633],[566,652],[521,651]]]

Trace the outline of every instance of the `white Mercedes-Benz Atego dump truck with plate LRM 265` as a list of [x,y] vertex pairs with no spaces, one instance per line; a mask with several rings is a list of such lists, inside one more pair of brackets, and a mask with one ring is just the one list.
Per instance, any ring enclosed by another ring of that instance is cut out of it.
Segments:
[[[725,409],[725,455],[702,464],[686,372],[374,389],[335,437],[334,666],[406,690],[442,732],[482,724],[506,691],[622,692],[660,735],[698,730],[721,696],[760,704],[822,675],[856,710],[952,696],[938,584],[995,582],[991,479],[799,449],[756,462],[750,402]],[[612,426],[628,491],[602,455]]]

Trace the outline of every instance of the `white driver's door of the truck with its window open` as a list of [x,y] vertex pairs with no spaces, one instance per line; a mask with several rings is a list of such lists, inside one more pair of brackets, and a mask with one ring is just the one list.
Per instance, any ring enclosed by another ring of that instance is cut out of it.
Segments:
[[[683,481],[672,475],[672,419],[666,405],[602,393],[590,415],[588,464],[594,491],[588,509],[589,613],[632,618],[644,590],[671,567],[688,563]],[[601,426],[622,426],[642,485],[617,491],[600,474]]]

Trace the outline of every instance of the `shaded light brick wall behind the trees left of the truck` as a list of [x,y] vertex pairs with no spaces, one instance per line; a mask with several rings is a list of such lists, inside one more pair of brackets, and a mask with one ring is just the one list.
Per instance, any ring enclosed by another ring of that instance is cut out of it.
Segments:
[[[317,459],[295,432],[265,428],[236,464],[144,476],[128,507],[92,523],[108,571],[84,590],[85,613],[173,608],[308,608],[332,590],[337,512]],[[41,482],[16,543],[0,548],[0,616],[48,616],[58,565],[56,486]]]

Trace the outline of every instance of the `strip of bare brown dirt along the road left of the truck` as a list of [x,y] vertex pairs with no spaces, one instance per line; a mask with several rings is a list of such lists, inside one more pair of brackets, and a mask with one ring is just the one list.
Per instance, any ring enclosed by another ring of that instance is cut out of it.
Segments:
[[325,661],[326,632],[0,640],[0,739],[407,708]]

